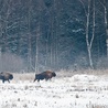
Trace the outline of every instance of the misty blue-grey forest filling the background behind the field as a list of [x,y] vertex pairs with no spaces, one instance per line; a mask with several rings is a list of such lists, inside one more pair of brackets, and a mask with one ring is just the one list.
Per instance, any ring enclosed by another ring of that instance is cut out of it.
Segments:
[[0,0],[0,71],[108,68],[108,0]]

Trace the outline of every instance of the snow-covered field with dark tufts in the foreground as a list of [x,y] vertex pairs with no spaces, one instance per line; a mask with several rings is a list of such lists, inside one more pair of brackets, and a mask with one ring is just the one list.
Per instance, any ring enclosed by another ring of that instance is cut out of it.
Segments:
[[108,77],[74,75],[2,84],[0,108],[108,108]]

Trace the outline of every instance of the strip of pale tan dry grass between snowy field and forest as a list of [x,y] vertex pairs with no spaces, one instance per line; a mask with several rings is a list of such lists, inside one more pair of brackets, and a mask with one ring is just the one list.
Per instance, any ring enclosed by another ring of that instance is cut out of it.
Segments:
[[[98,76],[108,76],[108,69],[104,69],[104,71],[95,71],[95,69],[80,69],[80,71],[76,71],[76,72],[73,72],[73,71],[66,71],[66,69],[62,69],[60,72],[55,72],[56,73],[56,78],[61,77],[72,77],[76,74],[88,74],[88,75],[98,75]],[[35,73],[13,73],[13,83],[15,82],[19,82],[19,80],[29,80],[29,82],[33,82],[34,80],[34,77],[35,77]]]

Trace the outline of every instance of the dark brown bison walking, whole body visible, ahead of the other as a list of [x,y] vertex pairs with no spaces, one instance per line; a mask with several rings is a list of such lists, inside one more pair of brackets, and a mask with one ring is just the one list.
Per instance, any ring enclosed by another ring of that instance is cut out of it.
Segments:
[[40,80],[43,80],[43,79],[48,80],[48,79],[51,79],[52,77],[55,77],[55,76],[56,76],[56,74],[54,72],[45,71],[41,74],[35,74],[34,82],[35,80],[40,82]]

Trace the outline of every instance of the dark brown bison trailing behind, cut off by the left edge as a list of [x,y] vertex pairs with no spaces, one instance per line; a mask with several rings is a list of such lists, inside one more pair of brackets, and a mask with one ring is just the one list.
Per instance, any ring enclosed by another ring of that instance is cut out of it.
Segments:
[[10,83],[10,79],[13,79],[13,75],[9,72],[1,72],[0,79],[2,80],[2,83],[4,83],[6,80]]

